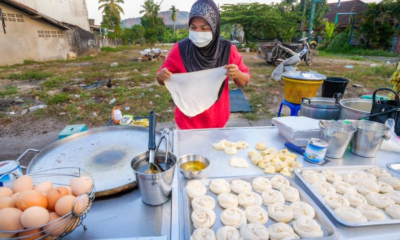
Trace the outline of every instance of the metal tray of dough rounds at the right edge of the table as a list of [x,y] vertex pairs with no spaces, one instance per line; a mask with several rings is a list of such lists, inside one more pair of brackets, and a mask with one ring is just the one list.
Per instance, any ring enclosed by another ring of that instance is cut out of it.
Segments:
[[[362,166],[343,166],[343,167],[317,167],[317,168],[297,168],[294,170],[294,173],[296,174],[296,176],[304,183],[304,185],[306,185],[306,187],[310,190],[310,192],[312,192],[312,194],[314,194],[314,196],[318,199],[319,204],[322,204],[324,206],[324,208],[326,208],[331,214],[332,216],[341,224],[348,226],[348,227],[361,227],[361,226],[374,226],[374,225],[388,225],[388,224],[399,224],[400,223],[400,219],[393,219],[391,218],[389,215],[387,215],[385,213],[385,211],[381,210],[383,212],[383,214],[386,216],[385,220],[382,221],[368,221],[368,222],[350,222],[350,221],[346,221],[343,218],[341,218],[340,216],[338,216],[334,210],[328,206],[328,204],[325,203],[324,201],[324,197],[319,194],[318,192],[314,191],[314,188],[311,186],[310,183],[308,183],[306,180],[304,180],[304,178],[301,176],[301,173],[303,172],[303,170],[314,170],[316,172],[321,172],[323,170],[331,170],[331,171],[335,171],[339,174],[344,173],[344,172],[357,172],[357,171],[365,171],[369,168],[375,168],[375,167],[379,167],[379,168],[385,168],[382,166],[378,166],[378,165],[362,165]],[[392,174],[396,177],[400,177],[397,174]]]

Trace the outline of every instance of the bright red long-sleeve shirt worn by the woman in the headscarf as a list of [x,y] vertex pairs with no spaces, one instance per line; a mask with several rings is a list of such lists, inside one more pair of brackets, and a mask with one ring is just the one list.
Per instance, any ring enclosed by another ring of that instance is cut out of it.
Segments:
[[[244,65],[242,55],[239,54],[238,49],[232,45],[230,50],[230,56],[228,64],[236,64],[241,72],[248,75],[250,79],[250,73],[248,68]],[[182,58],[180,57],[178,43],[174,45],[168,54],[167,59],[162,64],[161,69],[167,68],[172,73],[185,73],[186,69],[183,65]],[[230,109],[229,109],[229,84],[225,81],[223,91],[220,99],[214,103],[209,109],[196,115],[194,117],[188,117],[184,115],[178,108],[175,107],[175,122],[180,129],[196,129],[196,128],[219,128],[226,125],[229,120]]]

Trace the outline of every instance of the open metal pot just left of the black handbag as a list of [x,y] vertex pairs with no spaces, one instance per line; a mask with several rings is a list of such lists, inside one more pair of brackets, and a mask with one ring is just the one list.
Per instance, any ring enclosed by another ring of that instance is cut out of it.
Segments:
[[371,113],[372,99],[351,98],[340,101],[342,111],[339,119],[359,120]]

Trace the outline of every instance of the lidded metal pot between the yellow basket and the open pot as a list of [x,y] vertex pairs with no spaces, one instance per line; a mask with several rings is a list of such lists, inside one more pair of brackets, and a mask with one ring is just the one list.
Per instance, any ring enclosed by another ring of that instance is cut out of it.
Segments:
[[311,119],[338,120],[341,106],[335,98],[311,97],[301,99],[301,116]]

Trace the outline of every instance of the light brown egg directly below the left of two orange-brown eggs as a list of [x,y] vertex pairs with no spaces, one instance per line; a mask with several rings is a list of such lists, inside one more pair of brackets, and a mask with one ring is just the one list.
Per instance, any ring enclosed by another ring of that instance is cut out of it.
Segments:
[[46,224],[49,217],[47,209],[34,206],[23,211],[21,224],[26,228],[36,228]]

